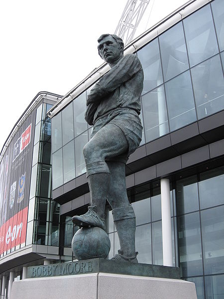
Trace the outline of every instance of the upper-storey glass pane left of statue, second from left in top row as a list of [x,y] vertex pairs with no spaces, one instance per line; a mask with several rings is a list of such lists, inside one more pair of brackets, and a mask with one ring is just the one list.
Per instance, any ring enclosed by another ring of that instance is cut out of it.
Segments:
[[62,110],[62,143],[67,144],[74,138],[73,105],[69,104]]

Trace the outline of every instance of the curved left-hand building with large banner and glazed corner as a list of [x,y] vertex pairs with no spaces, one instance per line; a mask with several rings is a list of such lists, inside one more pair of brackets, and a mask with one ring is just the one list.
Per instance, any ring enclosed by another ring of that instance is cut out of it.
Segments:
[[38,93],[0,153],[1,299],[10,298],[14,280],[26,278],[27,266],[60,259],[59,204],[51,198],[51,123],[46,116],[60,98]]

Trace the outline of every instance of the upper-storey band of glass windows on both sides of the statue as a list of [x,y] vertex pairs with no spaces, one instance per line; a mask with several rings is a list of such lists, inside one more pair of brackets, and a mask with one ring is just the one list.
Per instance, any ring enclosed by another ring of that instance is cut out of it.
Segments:
[[[224,109],[223,36],[223,1],[214,0],[136,51],[144,70],[140,146]],[[91,88],[52,118],[53,189],[86,171]]]

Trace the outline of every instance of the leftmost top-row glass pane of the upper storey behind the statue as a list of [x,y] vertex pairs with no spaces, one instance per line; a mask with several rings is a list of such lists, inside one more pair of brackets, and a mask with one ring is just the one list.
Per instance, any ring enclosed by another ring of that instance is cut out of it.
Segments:
[[51,146],[52,152],[62,147],[61,113],[51,119]]

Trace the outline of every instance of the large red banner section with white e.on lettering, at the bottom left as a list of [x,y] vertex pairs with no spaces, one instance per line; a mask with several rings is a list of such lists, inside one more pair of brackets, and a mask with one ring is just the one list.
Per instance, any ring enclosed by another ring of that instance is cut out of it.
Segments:
[[26,241],[28,207],[8,219],[0,227],[0,254]]

